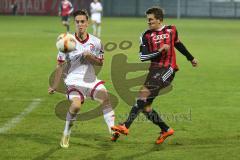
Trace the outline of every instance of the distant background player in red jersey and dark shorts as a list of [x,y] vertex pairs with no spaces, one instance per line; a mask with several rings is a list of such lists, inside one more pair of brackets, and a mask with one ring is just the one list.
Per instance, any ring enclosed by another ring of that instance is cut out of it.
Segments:
[[59,5],[59,16],[62,17],[62,24],[70,31],[69,16],[73,12],[72,3],[68,0],[62,0]]

